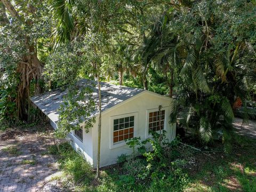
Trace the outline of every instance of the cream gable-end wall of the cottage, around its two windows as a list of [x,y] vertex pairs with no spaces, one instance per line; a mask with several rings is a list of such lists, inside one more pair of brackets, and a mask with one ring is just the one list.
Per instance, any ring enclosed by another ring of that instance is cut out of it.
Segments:
[[[117,157],[126,154],[132,154],[131,148],[125,144],[124,141],[113,143],[113,119],[119,118],[120,115],[127,114],[127,116],[134,115],[134,136],[141,137],[145,140],[150,137],[148,135],[148,113],[151,109],[158,110],[161,105],[165,110],[165,124],[164,130],[166,137],[169,140],[175,138],[176,127],[175,124],[170,124],[170,98],[165,98],[147,91],[127,100],[127,102],[120,103],[118,106],[110,108],[102,113],[102,127],[101,127],[101,151],[100,151],[100,166],[107,166],[114,164]],[[122,116],[121,116],[122,117]],[[93,137],[93,167],[97,165],[97,148],[98,148],[98,117],[92,129]]]

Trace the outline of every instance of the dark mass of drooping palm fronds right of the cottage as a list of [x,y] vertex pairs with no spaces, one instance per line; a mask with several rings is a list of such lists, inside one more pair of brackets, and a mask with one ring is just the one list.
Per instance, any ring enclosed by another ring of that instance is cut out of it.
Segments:
[[[174,95],[182,106],[180,121],[194,126],[206,143],[219,130],[223,141],[230,142],[236,98],[245,108],[250,100],[247,84],[255,82],[255,38],[249,35],[255,20],[253,6],[239,0],[179,1],[167,7],[141,45],[145,69],[151,63],[171,69],[166,79],[179,85]],[[174,110],[174,119],[175,114]]]

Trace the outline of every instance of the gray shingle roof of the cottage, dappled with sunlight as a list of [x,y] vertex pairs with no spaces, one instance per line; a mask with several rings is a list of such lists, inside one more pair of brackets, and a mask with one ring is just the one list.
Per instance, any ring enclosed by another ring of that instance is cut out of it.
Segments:
[[[86,86],[91,83],[97,84],[95,81],[81,79],[78,82],[79,86]],[[136,89],[126,86],[113,85],[106,82],[101,82],[101,97],[102,97],[102,111],[114,107],[134,95],[137,95],[144,90]],[[59,107],[63,103],[63,96],[67,94],[67,89],[55,89],[31,98],[31,101],[43,111],[53,122],[58,121]],[[93,92],[95,103],[98,103],[98,86],[95,87]],[[98,114],[98,111],[95,111]]]

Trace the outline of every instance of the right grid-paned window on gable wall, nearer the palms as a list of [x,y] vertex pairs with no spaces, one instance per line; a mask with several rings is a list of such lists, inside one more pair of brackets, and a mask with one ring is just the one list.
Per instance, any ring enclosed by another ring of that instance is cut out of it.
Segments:
[[148,132],[159,131],[164,129],[165,110],[154,111],[149,113]]

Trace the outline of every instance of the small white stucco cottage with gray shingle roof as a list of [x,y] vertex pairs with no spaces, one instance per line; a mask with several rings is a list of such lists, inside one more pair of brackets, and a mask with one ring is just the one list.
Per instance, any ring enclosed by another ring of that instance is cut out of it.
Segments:
[[[90,81],[91,82],[91,81]],[[82,79],[78,84],[86,86],[89,80]],[[37,95],[31,101],[50,118],[51,125],[57,129],[58,108],[63,102],[67,90],[56,89]],[[131,154],[132,150],[125,144],[125,139],[150,137],[149,130],[158,131],[159,118],[161,129],[166,131],[169,140],[175,138],[176,126],[170,124],[171,98],[150,91],[101,83],[102,94],[102,127],[100,166],[116,163],[122,154]],[[98,100],[98,89],[93,93]],[[159,114],[158,107],[162,106]],[[81,130],[72,131],[67,135],[71,145],[84,155],[85,159],[95,168],[97,166],[98,147],[98,112],[95,111],[94,126],[86,133],[81,124]]]

